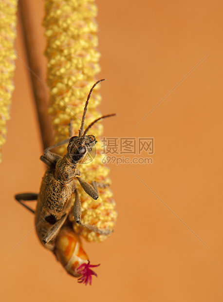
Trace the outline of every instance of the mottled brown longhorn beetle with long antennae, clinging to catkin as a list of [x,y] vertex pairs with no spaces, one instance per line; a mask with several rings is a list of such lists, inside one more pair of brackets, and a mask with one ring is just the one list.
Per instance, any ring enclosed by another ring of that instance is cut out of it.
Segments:
[[[75,193],[73,213],[74,220],[82,227],[86,227],[94,232],[100,234],[109,234],[112,230],[99,229],[94,226],[86,225],[81,222],[81,202],[76,186],[76,180],[78,180],[81,187],[89,194],[93,199],[98,198],[97,187],[104,188],[107,184],[101,184],[92,182],[89,184],[84,181],[78,170],[78,162],[83,159],[89,152],[92,151],[93,146],[97,143],[93,135],[86,135],[89,129],[98,120],[115,115],[115,113],[102,115],[95,119],[84,131],[84,121],[87,112],[87,106],[91,97],[93,88],[101,81],[98,80],[90,90],[82,116],[81,126],[78,136],[72,136],[70,139],[57,143],[47,148],[40,159],[49,168],[46,170],[40,191],[36,193],[23,193],[15,196],[16,200],[25,208],[35,213],[35,225],[38,238],[40,242],[45,245],[46,248],[54,250],[55,239],[60,228],[66,221],[68,214],[72,208],[72,195]],[[71,136],[71,129],[70,129]],[[60,155],[51,152],[50,150],[59,147],[63,144],[67,144],[67,153],[61,157]],[[23,202],[37,200],[37,208],[34,211],[29,208]]]

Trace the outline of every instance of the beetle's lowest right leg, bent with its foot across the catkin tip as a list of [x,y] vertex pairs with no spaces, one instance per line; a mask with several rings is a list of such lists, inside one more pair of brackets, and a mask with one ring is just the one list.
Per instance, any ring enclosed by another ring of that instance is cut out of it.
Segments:
[[75,222],[78,225],[80,225],[81,227],[86,227],[86,228],[90,229],[91,231],[93,231],[95,233],[99,233],[101,235],[108,235],[108,234],[111,234],[113,232],[113,230],[100,229],[98,227],[91,226],[91,225],[86,225],[86,224],[81,222],[81,202],[80,202],[80,196],[79,196],[76,189],[75,189],[75,200],[74,200],[73,214],[74,214]]

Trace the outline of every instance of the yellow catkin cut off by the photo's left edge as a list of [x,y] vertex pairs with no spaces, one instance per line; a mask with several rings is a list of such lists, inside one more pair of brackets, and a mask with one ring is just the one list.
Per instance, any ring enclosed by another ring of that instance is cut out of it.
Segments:
[[14,90],[16,12],[17,0],[0,0],[0,163]]

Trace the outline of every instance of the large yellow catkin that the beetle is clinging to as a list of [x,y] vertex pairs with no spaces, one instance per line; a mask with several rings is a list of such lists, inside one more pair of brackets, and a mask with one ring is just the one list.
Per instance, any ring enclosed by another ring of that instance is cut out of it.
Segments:
[[[55,129],[56,142],[69,136],[69,123],[74,125],[74,135],[80,129],[83,108],[87,95],[100,72],[98,64],[100,54],[97,51],[97,8],[94,0],[45,0],[45,18],[43,25],[47,38],[45,55],[47,64],[47,85],[50,93],[49,114]],[[85,125],[101,116],[96,107],[101,101],[97,85],[92,93]],[[56,95],[55,95],[56,94]],[[109,169],[102,164],[102,143],[100,136],[103,126],[96,123],[89,134],[93,134],[97,155],[93,161],[79,165],[84,180],[91,183],[103,182],[110,184]],[[66,146],[58,149],[64,154]],[[94,201],[80,186],[78,187],[82,203],[82,222],[99,228],[112,229],[117,213],[115,202],[109,188],[99,189],[99,198]],[[73,221],[72,215],[70,215]],[[99,242],[107,235],[99,235],[74,223],[74,231],[86,240]]]

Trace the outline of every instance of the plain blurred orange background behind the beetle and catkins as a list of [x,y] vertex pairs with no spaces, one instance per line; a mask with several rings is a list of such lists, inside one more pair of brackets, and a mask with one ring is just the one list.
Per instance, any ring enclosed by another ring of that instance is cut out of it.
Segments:
[[[42,54],[43,1],[31,4]],[[100,110],[118,113],[104,122],[104,134],[154,137],[153,164],[110,165],[119,217],[106,242],[84,242],[92,263],[101,263],[91,287],[67,275],[35,231],[11,251],[34,227],[34,218],[14,194],[38,192],[44,173],[29,74],[17,60],[0,167],[3,301],[221,302],[223,3],[96,4],[102,54],[98,78],[108,79],[101,85]],[[20,26],[16,49],[26,61]]]

